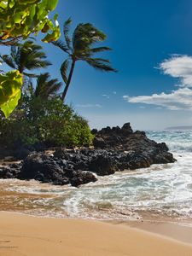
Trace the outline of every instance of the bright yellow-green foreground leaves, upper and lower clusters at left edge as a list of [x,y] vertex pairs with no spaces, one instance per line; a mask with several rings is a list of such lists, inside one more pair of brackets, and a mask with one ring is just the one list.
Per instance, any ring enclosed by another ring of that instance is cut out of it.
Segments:
[[[38,32],[46,33],[43,38],[45,43],[60,38],[57,15],[54,17],[55,24],[48,17],[57,3],[58,0],[0,0],[0,45],[15,45],[19,39],[26,39],[32,33],[37,36]],[[9,80],[9,89],[3,88],[4,77]],[[11,80],[12,78],[14,79]],[[5,116],[17,106],[21,87],[22,79],[15,71],[0,74],[0,109]]]

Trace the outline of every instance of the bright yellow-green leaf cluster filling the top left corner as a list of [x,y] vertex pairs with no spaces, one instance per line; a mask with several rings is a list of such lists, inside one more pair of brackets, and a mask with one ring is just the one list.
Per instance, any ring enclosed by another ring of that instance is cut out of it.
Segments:
[[26,39],[31,33],[46,33],[44,42],[60,38],[60,28],[49,20],[58,0],[3,0],[0,1],[0,44],[14,44],[18,38]]

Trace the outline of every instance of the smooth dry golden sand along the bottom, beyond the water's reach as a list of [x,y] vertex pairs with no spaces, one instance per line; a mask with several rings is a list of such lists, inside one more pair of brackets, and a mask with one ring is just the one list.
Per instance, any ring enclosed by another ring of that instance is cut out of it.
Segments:
[[192,246],[92,220],[0,212],[1,256],[192,256]]

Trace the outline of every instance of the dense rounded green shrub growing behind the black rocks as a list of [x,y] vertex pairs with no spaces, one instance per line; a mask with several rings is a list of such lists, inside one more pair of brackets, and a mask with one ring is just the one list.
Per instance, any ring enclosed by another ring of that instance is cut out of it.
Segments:
[[15,112],[0,119],[0,143],[9,147],[44,143],[71,148],[90,145],[92,140],[88,122],[58,97],[23,96]]

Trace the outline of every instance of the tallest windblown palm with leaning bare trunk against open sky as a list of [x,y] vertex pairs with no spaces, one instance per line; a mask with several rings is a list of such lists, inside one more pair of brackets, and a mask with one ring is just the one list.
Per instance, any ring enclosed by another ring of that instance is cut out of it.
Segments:
[[[52,42],[52,44],[59,47],[68,55],[67,60],[65,60],[61,65],[61,76],[66,84],[61,96],[61,100],[63,102],[67,95],[67,90],[71,83],[74,67],[77,61],[86,61],[91,67],[101,71],[116,71],[110,66],[110,62],[108,60],[94,57],[96,53],[110,49],[105,46],[94,47],[94,45],[99,41],[104,41],[106,39],[106,35],[90,23],[80,23],[73,32],[73,38],[70,38],[69,30],[71,23],[72,20],[68,19],[63,26],[65,42],[62,42],[61,40]],[[71,67],[68,72],[70,62]]]

